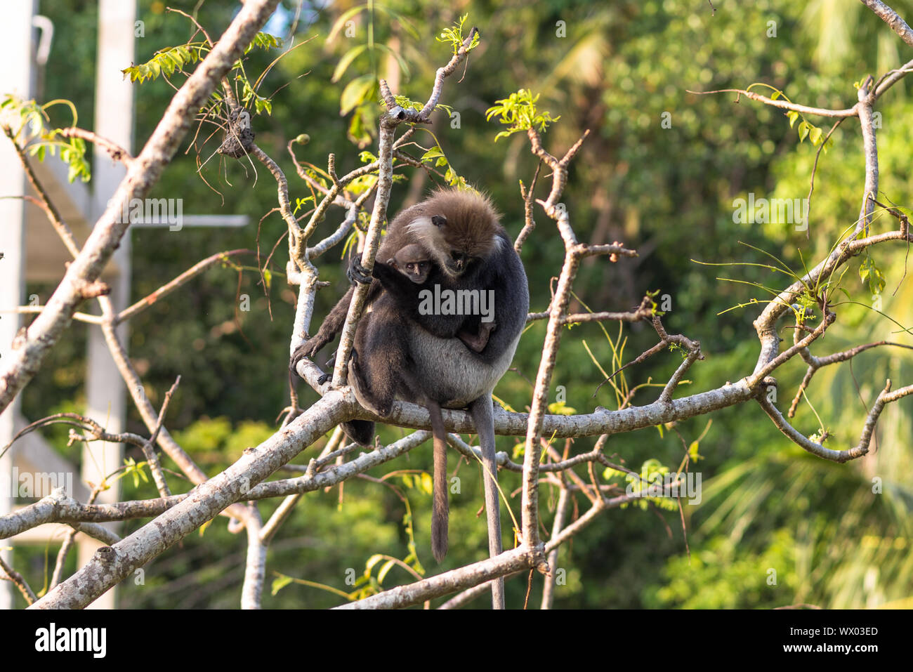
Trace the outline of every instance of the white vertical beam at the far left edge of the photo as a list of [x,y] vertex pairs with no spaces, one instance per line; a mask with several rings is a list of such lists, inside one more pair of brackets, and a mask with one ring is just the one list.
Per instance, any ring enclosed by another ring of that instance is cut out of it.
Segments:
[[[36,0],[9,0],[3,5],[0,20],[0,44],[3,45],[4,66],[0,68],[0,96],[15,93],[24,100],[32,97],[34,69],[32,67],[32,16]],[[0,196],[26,193],[26,173],[19,163],[9,141],[0,138]],[[17,198],[0,199],[0,310],[21,305],[25,295],[26,260],[25,202]],[[0,358],[9,356],[10,344],[19,329],[20,320],[15,314],[0,316]],[[13,418],[19,407],[19,397],[0,415],[0,446],[13,438]],[[12,489],[12,457],[0,457],[0,515],[8,513],[13,500],[6,497]],[[6,488],[5,486],[9,486]],[[9,544],[0,541],[0,548]],[[0,551],[4,559],[12,561],[10,551]],[[0,581],[0,609],[13,606],[10,583]]]

